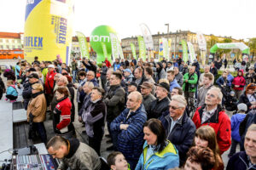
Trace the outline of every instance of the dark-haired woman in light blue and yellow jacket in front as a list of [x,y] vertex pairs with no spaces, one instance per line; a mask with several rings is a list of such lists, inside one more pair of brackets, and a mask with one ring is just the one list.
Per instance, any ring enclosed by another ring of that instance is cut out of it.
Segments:
[[143,126],[143,153],[137,163],[136,170],[169,169],[178,167],[177,149],[166,140],[165,129],[158,119],[150,119]]

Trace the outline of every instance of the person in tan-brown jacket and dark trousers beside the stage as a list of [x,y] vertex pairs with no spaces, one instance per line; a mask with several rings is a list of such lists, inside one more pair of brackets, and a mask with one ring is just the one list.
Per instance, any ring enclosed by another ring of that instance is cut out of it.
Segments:
[[27,122],[32,118],[33,130],[38,132],[38,135],[42,142],[46,144],[47,137],[44,127],[45,111],[46,111],[46,99],[44,97],[44,88],[40,83],[32,85],[32,99],[28,103],[26,115]]

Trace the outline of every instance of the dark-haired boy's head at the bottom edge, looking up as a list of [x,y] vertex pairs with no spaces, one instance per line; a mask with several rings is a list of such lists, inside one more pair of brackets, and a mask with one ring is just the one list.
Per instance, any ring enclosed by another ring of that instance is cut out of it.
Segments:
[[114,151],[109,154],[107,161],[111,170],[130,170],[125,156],[119,151]]

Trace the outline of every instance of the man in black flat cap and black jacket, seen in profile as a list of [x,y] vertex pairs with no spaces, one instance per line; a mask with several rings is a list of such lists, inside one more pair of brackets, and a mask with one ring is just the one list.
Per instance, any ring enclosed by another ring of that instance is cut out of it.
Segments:
[[153,102],[151,102],[150,107],[147,111],[148,119],[151,118],[159,118],[162,116],[162,113],[168,111],[170,104],[170,99],[168,98],[168,94],[170,92],[170,86],[166,82],[160,82],[156,87],[156,98]]

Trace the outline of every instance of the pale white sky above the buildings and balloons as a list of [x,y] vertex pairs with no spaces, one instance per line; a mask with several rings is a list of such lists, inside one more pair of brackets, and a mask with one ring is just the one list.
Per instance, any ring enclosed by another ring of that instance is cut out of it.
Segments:
[[[73,31],[86,37],[108,25],[120,38],[141,35],[145,23],[152,34],[201,31],[236,39],[256,37],[256,0],[75,0]],[[24,32],[26,0],[0,0],[0,31]]]

